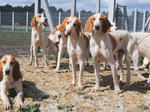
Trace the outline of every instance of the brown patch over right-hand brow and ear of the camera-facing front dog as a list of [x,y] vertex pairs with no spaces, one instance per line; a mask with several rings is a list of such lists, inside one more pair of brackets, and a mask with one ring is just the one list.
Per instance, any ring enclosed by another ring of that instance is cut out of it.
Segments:
[[111,23],[109,22],[108,18],[104,16],[103,14],[101,14],[100,19],[101,19],[101,24],[102,24],[102,27],[101,27],[102,31],[104,33],[108,32],[111,27]]

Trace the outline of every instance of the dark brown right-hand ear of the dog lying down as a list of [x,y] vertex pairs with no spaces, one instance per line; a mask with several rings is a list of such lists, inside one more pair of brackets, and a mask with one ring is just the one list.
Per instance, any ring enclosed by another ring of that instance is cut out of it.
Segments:
[[15,81],[21,78],[20,66],[16,60],[14,62],[14,67],[13,67],[13,78]]

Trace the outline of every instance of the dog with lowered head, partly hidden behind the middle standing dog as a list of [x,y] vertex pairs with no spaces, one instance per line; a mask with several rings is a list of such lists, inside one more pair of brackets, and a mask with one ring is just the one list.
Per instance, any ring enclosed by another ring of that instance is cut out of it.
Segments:
[[[57,66],[55,71],[60,70],[60,62],[63,51],[67,51],[67,38],[63,35],[63,32],[60,31],[60,25],[57,25],[55,29],[48,36],[48,57],[50,57],[52,51],[56,47],[56,62]],[[69,64],[70,65],[70,64]]]

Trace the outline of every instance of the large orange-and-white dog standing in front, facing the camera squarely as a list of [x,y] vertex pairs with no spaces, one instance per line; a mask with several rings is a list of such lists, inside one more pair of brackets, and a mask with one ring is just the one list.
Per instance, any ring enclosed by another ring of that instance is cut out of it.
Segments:
[[[94,71],[96,76],[96,85],[94,90],[99,89],[99,72],[100,72],[100,61],[108,62],[111,66],[114,88],[116,93],[120,93],[119,80],[117,77],[116,62],[114,60],[114,54],[119,50],[125,50],[126,59],[128,62],[128,75],[125,88],[129,86],[130,80],[130,61],[128,58],[128,52],[124,46],[120,43],[125,43],[128,39],[123,39],[120,36],[115,37],[114,34],[108,33],[111,27],[111,23],[108,18],[101,13],[96,13],[88,18],[85,24],[85,28],[90,35],[90,52],[94,61]],[[121,31],[123,32],[123,31]],[[118,40],[117,40],[118,39]]]

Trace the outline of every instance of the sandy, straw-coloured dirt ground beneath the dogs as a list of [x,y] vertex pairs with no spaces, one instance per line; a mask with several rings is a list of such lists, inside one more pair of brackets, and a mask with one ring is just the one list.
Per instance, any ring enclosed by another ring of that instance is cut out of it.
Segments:
[[[129,90],[120,82],[121,94],[115,94],[110,70],[101,71],[101,84],[93,92],[95,75],[92,65],[86,65],[83,75],[83,90],[71,86],[71,71],[68,60],[63,59],[60,72],[55,72],[56,63],[49,61],[49,69],[27,66],[29,56],[18,56],[23,73],[24,104],[41,104],[41,112],[150,112],[150,90],[144,88],[146,80],[140,80],[132,70]],[[39,64],[43,66],[42,58]],[[78,74],[79,71],[77,71]],[[147,78],[148,72],[142,71]],[[11,98],[13,99],[13,98]],[[2,101],[0,100],[0,110]],[[12,109],[14,112],[16,109]],[[10,112],[10,111],[8,111]]]

